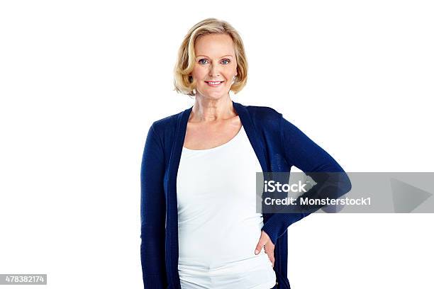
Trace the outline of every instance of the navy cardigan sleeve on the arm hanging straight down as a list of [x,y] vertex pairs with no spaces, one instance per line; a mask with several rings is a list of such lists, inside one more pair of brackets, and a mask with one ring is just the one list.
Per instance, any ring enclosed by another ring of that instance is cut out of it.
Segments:
[[167,288],[164,174],[162,142],[152,124],[146,137],[140,169],[140,259],[143,284],[147,289]]

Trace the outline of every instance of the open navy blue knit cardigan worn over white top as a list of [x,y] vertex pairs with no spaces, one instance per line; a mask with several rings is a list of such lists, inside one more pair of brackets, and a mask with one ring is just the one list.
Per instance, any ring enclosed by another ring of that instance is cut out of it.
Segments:
[[[185,111],[152,123],[145,141],[140,171],[140,256],[145,289],[181,289],[177,268],[176,183],[187,121],[192,108],[191,106]],[[296,166],[304,172],[333,171],[347,176],[330,154],[273,108],[243,106],[234,101],[233,108],[240,116],[262,171],[289,172],[291,166]],[[343,187],[346,189],[340,192],[340,195],[350,191],[350,180],[346,178],[345,182],[346,186]],[[286,229],[306,215],[309,213],[262,214],[262,230],[275,245],[274,271],[278,288],[290,288],[287,278]]]

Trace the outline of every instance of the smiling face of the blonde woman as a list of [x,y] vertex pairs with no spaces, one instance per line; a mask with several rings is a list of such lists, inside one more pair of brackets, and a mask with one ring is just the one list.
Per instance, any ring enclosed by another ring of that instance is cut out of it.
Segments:
[[[202,35],[194,45],[196,59],[191,76],[196,79],[196,93],[207,98],[228,96],[237,62],[233,40],[227,34]],[[223,81],[210,84],[209,81]]]

